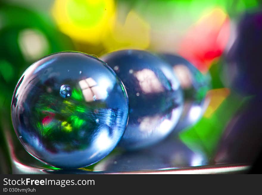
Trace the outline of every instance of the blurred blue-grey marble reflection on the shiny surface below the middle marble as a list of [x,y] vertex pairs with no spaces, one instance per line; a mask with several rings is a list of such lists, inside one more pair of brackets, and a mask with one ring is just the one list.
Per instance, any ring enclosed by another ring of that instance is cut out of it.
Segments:
[[93,171],[142,171],[203,165],[208,165],[204,154],[194,153],[177,137],[168,137],[143,150],[110,155],[96,164]]

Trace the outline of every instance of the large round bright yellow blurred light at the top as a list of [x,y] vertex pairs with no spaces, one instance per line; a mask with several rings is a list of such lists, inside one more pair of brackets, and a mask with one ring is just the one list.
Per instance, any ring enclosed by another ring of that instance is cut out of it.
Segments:
[[56,0],[52,15],[72,39],[99,44],[114,24],[115,4],[113,0]]

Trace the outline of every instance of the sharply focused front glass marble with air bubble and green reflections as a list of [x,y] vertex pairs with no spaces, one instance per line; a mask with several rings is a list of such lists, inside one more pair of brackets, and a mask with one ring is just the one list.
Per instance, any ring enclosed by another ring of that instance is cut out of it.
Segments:
[[118,144],[127,126],[128,97],[103,61],[60,52],[22,74],[11,116],[29,154],[54,167],[79,168],[99,161]]

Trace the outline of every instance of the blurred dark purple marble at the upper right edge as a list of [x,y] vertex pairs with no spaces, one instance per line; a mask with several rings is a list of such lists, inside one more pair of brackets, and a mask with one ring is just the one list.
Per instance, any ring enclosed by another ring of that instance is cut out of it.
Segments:
[[243,14],[223,66],[223,82],[242,95],[262,97],[262,11]]

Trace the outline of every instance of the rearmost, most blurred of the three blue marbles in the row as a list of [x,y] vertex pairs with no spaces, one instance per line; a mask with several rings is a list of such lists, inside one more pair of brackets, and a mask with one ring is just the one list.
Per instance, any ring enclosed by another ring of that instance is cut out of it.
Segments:
[[206,96],[211,88],[210,75],[202,74],[185,58],[173,54],[162,54],[172,66],[184,93],[183,112],[174,132],[193,126],[204,114],[209,102]]

